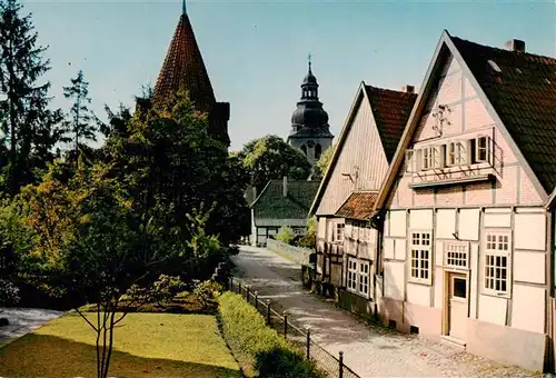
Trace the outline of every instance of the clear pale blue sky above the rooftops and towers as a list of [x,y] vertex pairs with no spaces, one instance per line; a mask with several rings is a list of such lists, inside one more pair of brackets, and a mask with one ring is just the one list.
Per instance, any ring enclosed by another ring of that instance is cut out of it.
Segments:
[[[54,106],[78,69],[95,110],[131,106],[155,83],[181,2],[26,1],[48,44]],[[299,84],[312,54],[331,131],[344,126],[361,80],[390,89],[420,87],[443,29],[503,47],[556,56],[556,3],[549,1],[216,1],[189,0],[188,14],[219,101],[229,101],[231,149],[267,133],[287,137]]]

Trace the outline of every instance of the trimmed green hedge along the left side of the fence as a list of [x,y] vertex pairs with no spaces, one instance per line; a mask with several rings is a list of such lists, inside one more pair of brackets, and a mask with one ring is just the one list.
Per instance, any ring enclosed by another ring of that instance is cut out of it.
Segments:
[[227,291],[218,298],[222,334],[244,372],[260,378],[321,378],[312,364],[241,296]]

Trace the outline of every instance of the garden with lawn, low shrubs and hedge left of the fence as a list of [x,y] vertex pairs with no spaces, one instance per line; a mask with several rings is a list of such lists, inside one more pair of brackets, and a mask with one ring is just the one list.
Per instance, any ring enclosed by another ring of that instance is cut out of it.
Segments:
[[[128,290],[113,312],[98,304],[68,311],[1,347],[0,371],[92,377],[106,366],[107,377],[322,377],[241,296],[215,281],[185,288],[162,276],[149,290]],[[109,348],[99,342],[107,336]]]

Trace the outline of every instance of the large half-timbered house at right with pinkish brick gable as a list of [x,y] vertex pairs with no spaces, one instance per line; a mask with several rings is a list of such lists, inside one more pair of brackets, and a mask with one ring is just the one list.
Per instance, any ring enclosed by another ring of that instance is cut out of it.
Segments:
[[385,324],[543,369],[554,335],[555,67],[519,40],[497,49],[443,33],[376,203]]

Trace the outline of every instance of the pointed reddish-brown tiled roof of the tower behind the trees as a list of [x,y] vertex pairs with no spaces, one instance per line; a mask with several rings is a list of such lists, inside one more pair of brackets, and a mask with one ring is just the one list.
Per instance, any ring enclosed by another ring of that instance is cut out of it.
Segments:
[[189,97],[193,100],[197,110],[209,111],[216,102],[215,92],[187,16],[185,2],[182,9],[155,86],[155,101],[163,101],[185,88],[189,91]]

